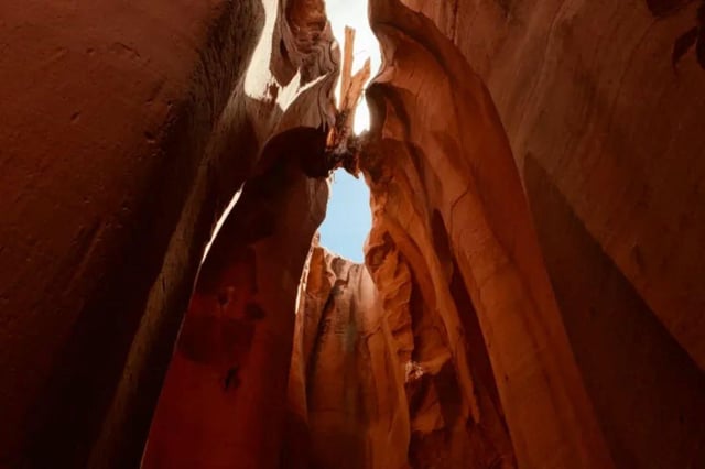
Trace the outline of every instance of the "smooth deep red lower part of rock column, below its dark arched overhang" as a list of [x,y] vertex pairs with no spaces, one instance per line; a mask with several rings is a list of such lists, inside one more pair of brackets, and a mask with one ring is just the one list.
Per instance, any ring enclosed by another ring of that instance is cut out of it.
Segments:
[[279,467],[296,292],[327,200],[293,163],[246,183],[200,269],[144,468]]

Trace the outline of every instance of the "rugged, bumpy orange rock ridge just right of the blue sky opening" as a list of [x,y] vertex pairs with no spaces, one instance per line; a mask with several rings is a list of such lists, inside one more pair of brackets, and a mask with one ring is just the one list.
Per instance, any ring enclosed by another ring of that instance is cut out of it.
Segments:
[[375,227],[366,262],[380,292],[403,377],[409,465],[516,467],[476,312],[447,236],[438,232],[436,217],[432,246],[416,244],[423,241],[414,239],[414,229],[398,230],[392,206],[400,200],[388,199],[388,206],[375,189],[383,186],[394,193],[404,186],[383,179],[371,186]]

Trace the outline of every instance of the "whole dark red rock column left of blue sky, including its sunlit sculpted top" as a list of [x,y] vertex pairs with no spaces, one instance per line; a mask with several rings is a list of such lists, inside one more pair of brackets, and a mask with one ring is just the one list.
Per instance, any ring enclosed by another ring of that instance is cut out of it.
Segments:
[[337,53],[322,2],[264,8],[243,87],[267,144],[200,268],[145,468],[280,465],[295,297],[327,201],[325,179],[310,176],[322,166]]

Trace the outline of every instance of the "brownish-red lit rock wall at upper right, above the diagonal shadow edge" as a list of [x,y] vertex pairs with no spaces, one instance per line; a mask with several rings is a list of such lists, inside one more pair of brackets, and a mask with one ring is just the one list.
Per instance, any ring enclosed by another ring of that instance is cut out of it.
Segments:
[[[524,181],[533,160],[705,369],[705,81],[694,54],[671,65],[699,2],[405,3],[485,79]],[[655,15],[657,3],[685,7]]]

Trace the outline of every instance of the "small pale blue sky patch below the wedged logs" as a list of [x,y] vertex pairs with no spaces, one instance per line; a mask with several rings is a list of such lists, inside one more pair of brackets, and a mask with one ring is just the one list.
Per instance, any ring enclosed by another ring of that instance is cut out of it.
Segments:
[[370,231],[370,190],[344,170],[335,172],[326,219],[321,225],[321,244],[336,254],[362,262],[362,246]]

